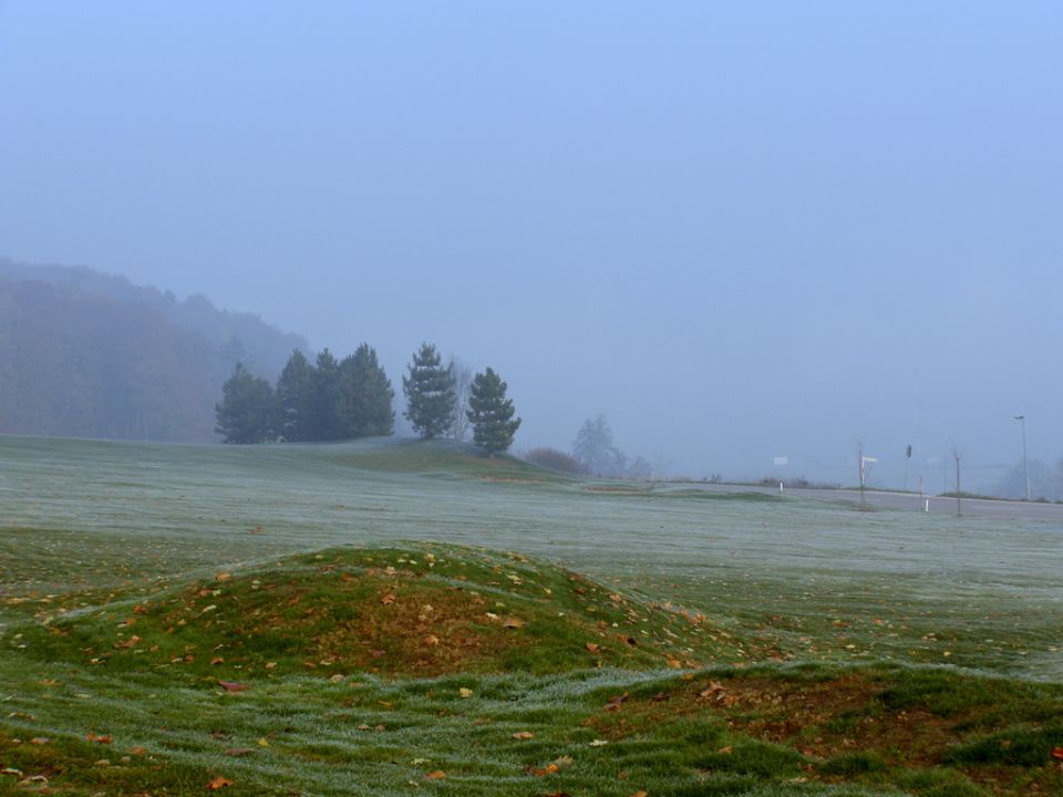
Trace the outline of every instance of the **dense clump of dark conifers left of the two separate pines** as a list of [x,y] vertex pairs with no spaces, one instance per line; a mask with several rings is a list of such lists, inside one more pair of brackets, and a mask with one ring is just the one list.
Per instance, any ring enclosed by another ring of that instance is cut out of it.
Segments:
[[276,387],[237,364],[216,407],[217,432],[225,443],[390,435],[394,395],[376,352],[367,343],[339,361],[326,349],[313,364],[297,349]]

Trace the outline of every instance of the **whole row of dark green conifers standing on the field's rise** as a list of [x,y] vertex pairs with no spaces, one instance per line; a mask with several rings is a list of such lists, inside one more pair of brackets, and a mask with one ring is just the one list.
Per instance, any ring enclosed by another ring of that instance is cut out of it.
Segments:
[[[468,374],[454,360],[444,365],[435,345],[423,343],[402,377],[403,415],[422,438],[463,435],[467,424],[487,454],[507,451],[520,418],[506,383],[491,368]],[[296,350],[276,385],[237,363],[216,406],[217,432],[238,444],[388,436],[394,434],[394,395],[368,343],[339,361],[326,349],[310,363]]]

